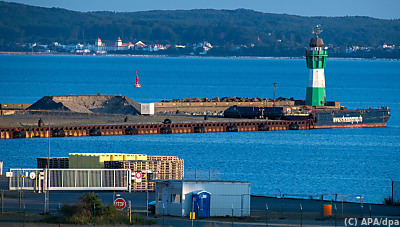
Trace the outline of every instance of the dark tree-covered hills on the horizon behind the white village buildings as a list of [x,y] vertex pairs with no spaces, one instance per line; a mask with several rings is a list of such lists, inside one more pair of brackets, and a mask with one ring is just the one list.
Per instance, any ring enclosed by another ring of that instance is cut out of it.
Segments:
[[308,46],[315,25],[335,47],[399,45],[400,20],[371,17],[302,17],[253,10],[163,10],[76,12],[0,1],[0,45],[51,42],[114,42],[191,45],[208,41],[223,49],[255,45],[268,50]]

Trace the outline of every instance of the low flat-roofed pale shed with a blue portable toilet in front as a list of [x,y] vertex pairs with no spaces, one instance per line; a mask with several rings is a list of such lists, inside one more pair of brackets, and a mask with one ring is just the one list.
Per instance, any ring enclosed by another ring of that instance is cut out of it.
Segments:
[[[209,207],[208,204],[209,203]],[[250,216],[250,182],[157,180],[158,215]]]

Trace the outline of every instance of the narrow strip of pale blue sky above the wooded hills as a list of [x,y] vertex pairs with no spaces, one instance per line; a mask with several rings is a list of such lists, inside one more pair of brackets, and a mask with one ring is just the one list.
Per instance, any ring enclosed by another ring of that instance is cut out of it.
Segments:
[[400,0],[6,0],[74,11],[135,12],[175,9],[252,9],[300,16],[400,18]]

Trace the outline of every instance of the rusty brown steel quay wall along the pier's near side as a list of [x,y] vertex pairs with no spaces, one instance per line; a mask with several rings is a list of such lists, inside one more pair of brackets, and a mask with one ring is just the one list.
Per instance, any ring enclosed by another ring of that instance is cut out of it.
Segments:
[[[265,130],[265,126],[268,129]],[[293,129],[310,129],[309,122],[286,120],[238,120],[238,121],[204,121],[137,123],[137,124],[107,124],[50,127],[52,137],[70,136],[111,136],[111,135],[140,135],[140,134],[169,134],[169,133],[198,133],[198,132],[235,132],[235,131],[277,131]],[[264,126],[263,129],[260,126]],[[40,138],[49,136],[49,127],[18,127],[1,128],[1,139]]]

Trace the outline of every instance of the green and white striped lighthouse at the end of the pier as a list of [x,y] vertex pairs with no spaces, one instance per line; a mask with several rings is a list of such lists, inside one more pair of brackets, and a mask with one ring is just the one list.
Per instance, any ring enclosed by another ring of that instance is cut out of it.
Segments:
[[315,28],[315,37],[306,51],[307,68],[310,69],[306,93],[307,106],[324,106],[326,103],[325,73],[327,51],[324,42],[318,37],[319,27]]

